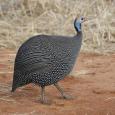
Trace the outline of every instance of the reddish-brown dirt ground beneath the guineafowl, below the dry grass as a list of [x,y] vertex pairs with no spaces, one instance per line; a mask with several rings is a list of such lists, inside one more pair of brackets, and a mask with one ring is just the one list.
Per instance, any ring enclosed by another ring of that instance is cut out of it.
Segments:
[[40,88],[32,84],[11,93],[15,51],[0,51],[0,115],[115,115],[115,54],[81,53],[72,76],[60,82],[73,100],[46,87],[51,105],[39,103]]

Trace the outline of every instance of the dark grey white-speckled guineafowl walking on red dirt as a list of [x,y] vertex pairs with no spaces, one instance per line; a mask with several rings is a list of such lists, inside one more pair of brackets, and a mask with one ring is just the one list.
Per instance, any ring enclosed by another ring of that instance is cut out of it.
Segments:
[[40,102],[47,104],[45,87],[54,85],[64,99],[71,99],[59,86],[73,69],[82,45],[84,17],[75,18],[74,36],[36,35],[26,40],[18,49],[12,90],[33,83],[41,88]]

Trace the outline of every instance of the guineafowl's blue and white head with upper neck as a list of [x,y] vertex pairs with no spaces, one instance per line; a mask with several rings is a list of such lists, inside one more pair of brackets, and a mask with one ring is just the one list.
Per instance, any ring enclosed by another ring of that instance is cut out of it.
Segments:
[[84,17],[80,17],[80,18],[75,18],[75,21],[74,21],[74,27],[75,27],[75,29],[76,29],[76,31],[77,32],[81,32],[82,30],[81,30],[81,24],[83,23],[83,22],[85,22],[86,21],[86,18],[84,18]]

